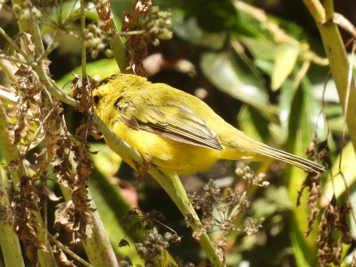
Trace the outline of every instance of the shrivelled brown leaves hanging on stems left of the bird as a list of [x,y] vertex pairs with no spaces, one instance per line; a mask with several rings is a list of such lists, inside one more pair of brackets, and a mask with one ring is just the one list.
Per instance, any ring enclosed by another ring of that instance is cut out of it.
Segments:
[[[20,37],[19,41],[28,43],[27,49],[34,61],[36,47],[30,35],[23,34]],[[15,52],[12,56],[19,58]],[[47,69],[49,62],[44,60],[42,63],[43,68]],[[87,111],[84,116],[87,119],[82,120],[73,137],[67,130],[61,103],[43,88],[35,70],[24,64],[18,64],[17,68],[11,90],[19,96],[19,100],[17,106],[9,105],[6,112],[10,119],[7,135],[14,146],[13,153],[18,155],[13,155],[15,159],[7,166],[14,184],[9,195],[10,206],[2,204],[2,210],[7,212],[2,217],[13,226],[19,239],[26,245],[26,256],[36,265],[37,250],[48,251],[46,244],[38,239],[38,226],[43,224],[41,207],[46,205],[47,198],[52,201],[61,199],[46,186],[50,170],[57,175],[58,182],[72,192],[72,200],[57,205],[55,224],[75,233],[74,242],[91,236],[93,222],[89,213],[93,209],[89,206],[87,188],[93,163],[89,158],[87,136],[97,137],[97,134],[91,122],[91,113],[87,110],[91,106],[91,87],[96,84],[89,80],[84,85],[76,77],[73,96],[80,99],[77,108],[82,112]],[[42,148],[39,153],[30,151],[33,148],[38,151],[39,144]],[[29,151],[37,158],[36,162],[27,161],[27,157],[32,156]],[[33,174],[30,176],[26,169],[32,169]]]

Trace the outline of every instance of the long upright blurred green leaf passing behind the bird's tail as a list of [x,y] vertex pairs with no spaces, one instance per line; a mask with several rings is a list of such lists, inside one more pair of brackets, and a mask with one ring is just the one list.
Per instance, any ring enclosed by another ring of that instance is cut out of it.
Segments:
[[[292,90],[290,88],[289,90]],[[313,98],[311,85],[304,78],[300,88],[292,95],[292,102],[289,114],[288,124],[288,147],[287,152],[293,153],[300,157],[305,156],[305,149],[309,146],[313,132],[316,130],[316,120],[320,113],[320,105]],[[298,189],[301,188],[303,180],[307,177],[307,173],[303,170],[288,167],[288,191],[293,203],[297,203]],[[310,215],[310,209],[307,205],[308,193],[305,190],[300,200],[300,205],[295,206],[291,216],[290,236],[293,249],[295,251],[295,259],[298,266],[316,266],[317,260],[315,255],[318,252],[318,245],[315,240],[318,235],[316,230],[310,232],[308,237],[304,233],[308,227],[308,222],[305,218]]]

